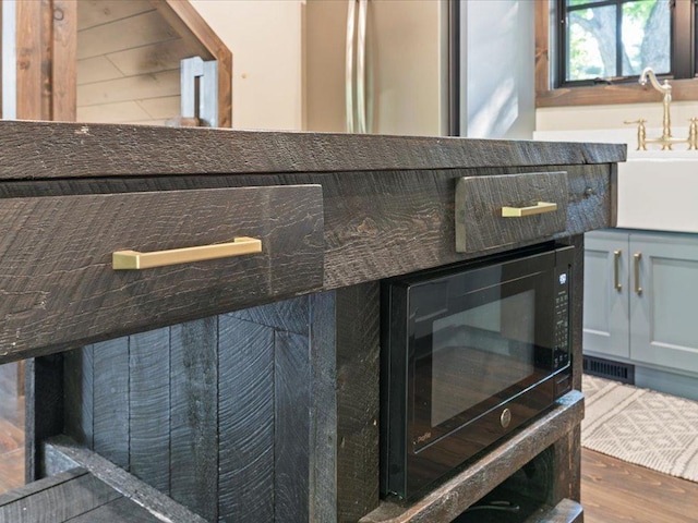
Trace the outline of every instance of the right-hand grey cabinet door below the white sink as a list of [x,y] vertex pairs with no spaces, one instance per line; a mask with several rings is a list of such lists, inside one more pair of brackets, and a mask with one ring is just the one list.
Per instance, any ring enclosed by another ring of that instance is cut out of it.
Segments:
[[630,234],[630,356],[697,373],[698,239]]

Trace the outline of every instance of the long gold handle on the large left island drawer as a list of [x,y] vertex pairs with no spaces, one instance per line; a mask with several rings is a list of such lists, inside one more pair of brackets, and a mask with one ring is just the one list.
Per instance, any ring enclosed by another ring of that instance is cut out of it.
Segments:
[[166,265],[190,264],[205,259],[227,258],[262,252],[262,241],[256,238],[236,238],[229,243],[201,245],[198,247],[173,248],[154,253],[137,251],[117,251],[112,254],[111,266],[115,270],[141,270]]

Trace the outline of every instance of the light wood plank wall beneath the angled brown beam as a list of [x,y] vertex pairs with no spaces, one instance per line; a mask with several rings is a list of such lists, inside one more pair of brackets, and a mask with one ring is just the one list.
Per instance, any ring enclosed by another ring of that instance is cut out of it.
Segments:
[[77,121],[164,124],[180,114],[180,60],[206,49],[182,38],[148,0],[80,0]]

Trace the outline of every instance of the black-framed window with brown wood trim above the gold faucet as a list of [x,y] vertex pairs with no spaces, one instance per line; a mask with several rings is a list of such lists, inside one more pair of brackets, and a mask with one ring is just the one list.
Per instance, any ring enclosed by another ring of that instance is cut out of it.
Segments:
[[637,84],[646,66],[672,80],[674,99],[697,100],[697,10],[693,0],[537,0],[538,107],[654,101]]

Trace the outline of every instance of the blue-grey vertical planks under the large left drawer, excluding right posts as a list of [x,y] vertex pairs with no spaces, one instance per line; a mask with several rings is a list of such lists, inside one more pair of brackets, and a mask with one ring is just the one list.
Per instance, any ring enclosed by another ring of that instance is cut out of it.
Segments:
[[[313,328],[311,311],[323,318],[333,295],[65,353],[64,434],[207,521],[310,521],[311,511],[334,512],[309,496],[311,442],[335,428],[324,417],[333,410],[325,370],[334,368],[334,348],[313,349],[311,331],[325,326]],[[311,360],[322,369],[315,377]],[[323,401],[320,419],[311,398]],[[333,462],[334,447],[325,453]]]

